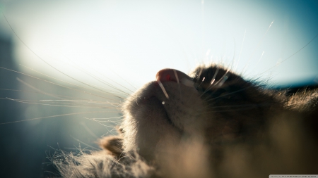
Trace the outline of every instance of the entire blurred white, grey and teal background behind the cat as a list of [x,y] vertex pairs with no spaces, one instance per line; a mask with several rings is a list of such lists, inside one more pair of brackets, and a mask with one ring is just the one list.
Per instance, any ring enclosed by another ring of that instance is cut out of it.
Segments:
[[54,177],[55,149],[98,149],[124,98],[163,68],[318,82],[314,0],[0,0],[0,11],[1,177]]

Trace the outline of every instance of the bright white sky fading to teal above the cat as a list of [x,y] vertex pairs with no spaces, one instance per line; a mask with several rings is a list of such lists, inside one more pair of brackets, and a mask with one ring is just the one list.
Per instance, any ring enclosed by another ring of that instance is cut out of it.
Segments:
[[318,76],[317,1],[2,0],[0,7],[0,32],[13,39],[20,71],[39,77],[102,85],[97,76],[134,90],[163,68],[189,73],[210,63],[269,85]]

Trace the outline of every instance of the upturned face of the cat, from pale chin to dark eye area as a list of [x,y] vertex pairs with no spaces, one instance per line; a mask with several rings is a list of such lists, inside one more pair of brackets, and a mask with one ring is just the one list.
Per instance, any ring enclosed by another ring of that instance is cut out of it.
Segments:
[[[124,103],[124,151],[146,159],[184,139],[211,146],[257,137],[266,118],[282,107],[266,90],[218,65],[191,75],[160,70]],[[275,108],[275,109],[274,109]]]

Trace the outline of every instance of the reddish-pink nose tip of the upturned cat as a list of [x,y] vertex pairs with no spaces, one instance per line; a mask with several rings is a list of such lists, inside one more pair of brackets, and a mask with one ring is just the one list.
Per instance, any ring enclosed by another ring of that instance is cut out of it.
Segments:
[[184,72],[175,69],[163,69],[157,72],[155,75],[157,82],[177,82],[178,84],[184,84],[186,86],[193,87],[192,78]]

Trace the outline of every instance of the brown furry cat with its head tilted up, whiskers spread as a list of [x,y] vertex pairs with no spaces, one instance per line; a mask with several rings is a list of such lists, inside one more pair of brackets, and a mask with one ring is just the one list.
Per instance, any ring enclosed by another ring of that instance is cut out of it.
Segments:
[[215,64],[156,78],[122,104],[102,151],[52,158],[62,177],[317,174],[317,89],[266,89]]

